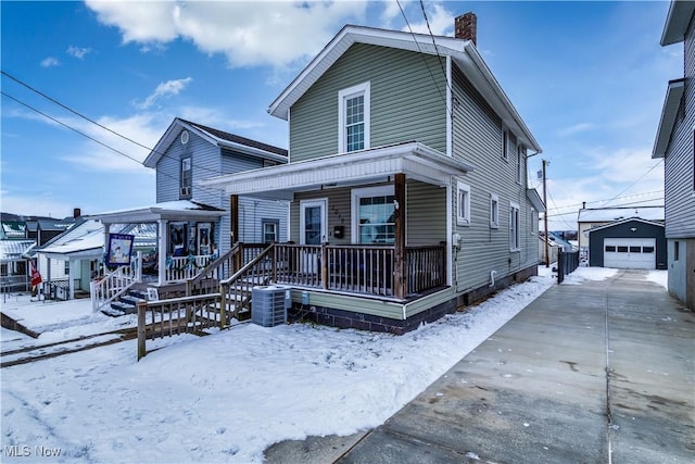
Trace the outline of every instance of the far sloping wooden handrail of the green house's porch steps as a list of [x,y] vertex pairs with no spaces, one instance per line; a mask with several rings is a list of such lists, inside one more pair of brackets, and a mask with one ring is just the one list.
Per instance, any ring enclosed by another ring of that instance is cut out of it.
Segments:
[[245,263],[258,255],[267,243],[235,243],[231,250],[211,262],[197,276],[186,283],[186,294],[217,291],[219,283],[228,279]]

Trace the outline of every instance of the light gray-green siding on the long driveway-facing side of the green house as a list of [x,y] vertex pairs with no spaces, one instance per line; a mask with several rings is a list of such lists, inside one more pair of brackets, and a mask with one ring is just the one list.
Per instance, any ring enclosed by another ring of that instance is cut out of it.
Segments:
[[[462,249],[456,255],[453,279],[458,291],[468,291],[495,278],[538,264],[538,235],[531,228],[531,204],[527,200],[527,166],[521,158],[521,184],[517,183],[517,140],[509,135],[507,159],[502,156],[503,125],[463,73],[453,66],[454,125],[453,155],[475,166],[475,171],[452,181],[452,223],[460,234]],[[457,181],[470,186],[469,225],[457,224]],[[490,198],[498,198],[498,227],[490,225]],[[510,203],[519,211],[518,251],[510,250]]]

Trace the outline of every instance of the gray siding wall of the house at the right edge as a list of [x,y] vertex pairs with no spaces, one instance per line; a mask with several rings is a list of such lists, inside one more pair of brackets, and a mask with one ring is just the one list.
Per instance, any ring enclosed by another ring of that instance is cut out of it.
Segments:
[[684,40],[685,92],[666,152],[666,237],[695,237],[695,20]]

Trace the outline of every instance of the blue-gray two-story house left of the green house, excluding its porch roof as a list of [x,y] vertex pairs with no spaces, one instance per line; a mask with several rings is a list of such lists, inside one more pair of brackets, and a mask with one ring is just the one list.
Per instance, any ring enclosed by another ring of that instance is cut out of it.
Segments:
[[[144,160],[147,167],[156,170],[156,202],[191,200],[224,211],[230,210],[229,196],[219,190],[201,187],[199,180],[266,166],[287,163],[287,150],[251,140],[198,123],[175,118]],[[288,239],[288,203],[261,198],[239,199],[238,236],[230,238],[230,218],[224,215],[210,224],[211,244],[228,250],[232,241],[265,243]],[[193,230],[206,225],[172,223],[169,235],[182,229],[184,243],[194,236]],[[186,247],[181,253],[190,251]],[[169,250],[174,252],[175,250]],[[193,250],[198,253],[200,250]]]

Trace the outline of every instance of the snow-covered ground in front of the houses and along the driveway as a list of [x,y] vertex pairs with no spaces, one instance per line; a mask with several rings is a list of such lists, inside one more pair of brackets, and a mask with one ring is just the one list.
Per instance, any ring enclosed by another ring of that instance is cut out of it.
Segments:
[[[262,462],[278,441],[376,427],[554,285],[539,272],[400,337],[241,324],[149,343],[165,349],[140,362],[130,340],[2,368],[2,462]],[[580,267],[566,283],[612,274]],[[27,300],[2,311],[42,335],[3,329],[3,352],[135,325],[91,314],[88,301]]]

